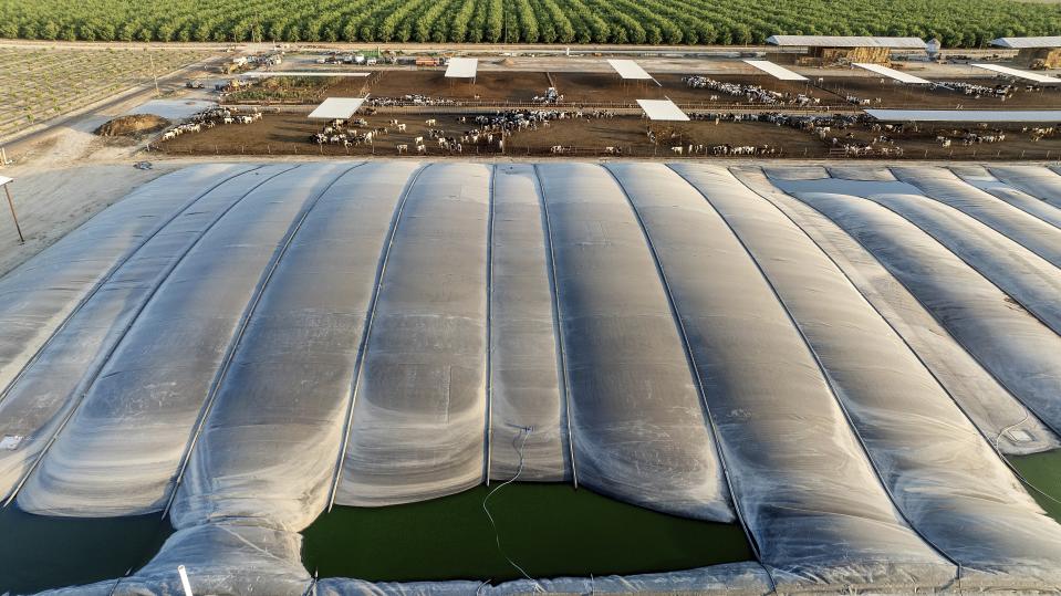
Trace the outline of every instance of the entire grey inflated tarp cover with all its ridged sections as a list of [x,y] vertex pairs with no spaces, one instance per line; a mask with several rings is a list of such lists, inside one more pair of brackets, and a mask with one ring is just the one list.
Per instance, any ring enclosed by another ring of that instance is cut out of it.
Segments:
[[[73,594],[179,593],[178,564],[197,594],[914,594],[959,573],[963,590],[1049,592],[1061,526],[999,450],[1059,445],[1059,180],[191,166],[0,278],[0,440],[23,437],[0,494],[67,516],[170,508],[150,563]],[[499,586],[302,567],[298,532],[333,501],[521,467],[740,523],[757,560]]]

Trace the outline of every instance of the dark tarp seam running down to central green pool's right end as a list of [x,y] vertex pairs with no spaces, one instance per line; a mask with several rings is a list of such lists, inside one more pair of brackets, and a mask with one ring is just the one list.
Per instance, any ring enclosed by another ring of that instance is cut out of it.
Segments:
[[685,323],[682,321],[682,315],[678,314],[678,305],[674,300],[674,293],[670,291],[670,282],[667,280],[667,273],[663,268],[663,263],[659,262],[659,255],[656,253],[656,245],[652,240],[652,234],[648,232],[645,221],[641,218],[641,212],[634,205],[634,201],[622,180],[620,180],[618,176],[616,176],[615,172],[612,171],[612,169],[607,166],[603,166],[603,168],[612,176],[612,179],[615,180],[620,191],[622,191],[623,197],[626,199],[627,205],[634,213],[634,218],[637,220],[637,226],[641,228],[641,233],[644,237],[648,252],[652,254],[653,263],[656,265],[656,274],[659,276],[659,281],[663,284],[663,290],[667,294],[667,305],[670,310],[672,321],[674,322],[675,330],[682,336],[682,348],[685,352],[686,365],[689,367],[689,375],[693,377],[693,381],[696,384],[696,393],[700,398],[700,407],[703,408],[704,416],[707,419],[708,432],[711,435],[711,443],[715,447],[715,454],[718,457],[718,463],[722,469],[722,477],[726,482],[726,489],[729,493],[729,499],[734,504],[734,512],[737,515],[737,521],[740,523],[740,527],[745,531],[745,535],[748,536],[748,543],[751,545],[751,550],[756,555],[756,560],[760,565],[762,565],[763,571],[767,573],[767,577],[770,579],[771,589],[777,592],[777,582],[773,579],[773,574],[771,574],[770,571],[767,569],[766,565],[762,564],[762,552],[759,550],[759,542],[748,527],[748,524],[745,523],[745,515],[741,512],[739,502],[737,501],[737,494],[734,492],[734,483],[729,475],[729,466],[726,463],[726,457],[722,453],[721,441],[718,437],[718,427],[715,424],[715,417],[711,414],[710,405],[707,401],[707,391],[704,390],[704,380],[700,378],[699,365],[696,363],[696,356],[694,355],[693,346],[689,343],[689,335],[686,332]]

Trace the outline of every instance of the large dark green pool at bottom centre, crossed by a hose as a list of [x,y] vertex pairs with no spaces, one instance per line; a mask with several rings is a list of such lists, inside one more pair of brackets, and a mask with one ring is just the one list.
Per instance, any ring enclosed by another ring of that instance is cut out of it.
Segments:
[[481,579],[636,574],[750,561],[736,524],[656,513],[568,484],[497,484],[375,508],[335,508],[303,535],[302,560],[320,577]]

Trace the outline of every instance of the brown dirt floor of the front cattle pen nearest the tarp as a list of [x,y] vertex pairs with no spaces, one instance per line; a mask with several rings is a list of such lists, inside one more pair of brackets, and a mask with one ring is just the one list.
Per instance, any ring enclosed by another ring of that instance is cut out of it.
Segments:
[[[367,117],[368,128],[382,128],[393,115],[383,114]],[[461,123],[455,115],[437,115],[437,124],[428,127],[425,115],[398,116],[406,124],[404,133],[392,132],[378,136],[373,145],[318,145],[312,136],[320,130],[320,123],[301,115],[267,115],[260,122],[249,125],[223,125],[201,133],[181,135],[156,146],[169,156],[209,156],[209,155],[302,155],[302,156],[397,156],[397,145],[408,145],[415,150],[415,137],[426,139],[427,155],[449,156],[428,136],[428,128],[443,129],[447,136],[460,136],[475,128],[474,123]],[[537,130],[516,133],[506,138],[505,154],[510,156],[553,157],[551,147],[563,146],[564,155],[601,156],[616,155],[605,147],[615,147],[616,153],[631,157],[677,157],[674,146],[716,145],[763,146],[778,151],[778,157],[815,158],[843,157],[831,143],[833,136],[843,144],[868,144],[881,134],[888,134],[894,143],[877,142],[876,146],[901,147],[904,158],[917,159],[1057,159],[1061,157],[1061,134],[1032,142],[1030,134],[1021,132],[1021,126],[1008,126],[1006,140],[991,144],[963,145],[963,128],[944,126],[922,126],[904,133],[882,133],[871,130],[867,125],[856,125],[845,130],[833,130],[824,140],[816,134],[799,130],[789,126],[777,126],[764,122],[693,121],[673,126],[655,124],[658,143],[648,140],[648,122],[635,116],[613,118],[580,118],[553,121],[549,126]],[[989,130],[968,128],[979,134]],[[675,137],[672,138],[672,133]],[[850,134],[850,136],[849,136]],[[937,135],[951,138],[950,147],[944,148],[936,140]],[[687,149],[686,149],[687,151]],[[467,144],[462,155],[495,155],[500,153],[497,145],[480,143]],[[687,156],[683,155],[683,156]]]

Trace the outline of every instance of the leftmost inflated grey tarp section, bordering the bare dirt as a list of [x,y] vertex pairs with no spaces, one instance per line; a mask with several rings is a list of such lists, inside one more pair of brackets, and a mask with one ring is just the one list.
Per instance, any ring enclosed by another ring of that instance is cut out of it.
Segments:
[[[211,185],[218,178],[223,182],[249,169],[250,166],[194,166],[162,176],[3,276],[0,402],[22,370],[32,365],[84,301],[173,218],[209,192],[189,200],[187,187]],[[236,174],[231,174],[233,170]]]

